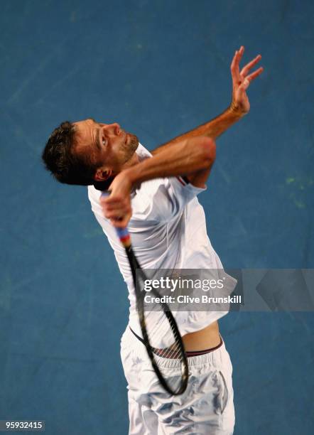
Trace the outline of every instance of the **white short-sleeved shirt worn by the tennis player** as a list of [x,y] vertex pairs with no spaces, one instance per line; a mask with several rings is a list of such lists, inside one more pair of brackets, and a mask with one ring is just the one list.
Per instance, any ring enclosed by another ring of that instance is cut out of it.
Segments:
[[[151,153],[139,144],[140,161]],[[197,195],[205,188],[186,183],[181,177],[155,178],[141,183],[131,193],[132,216],[128,230],[134,254],[143,269],[222,269],[222,262],[207,236],[205,213]],[[115,228],[102,214],[102,192],[88,186],[95,218],[114,249],[120,272],[129,289],[129,326],[141,336],[131,269]],[[234,286],[237,280],[233,279]],[[176,312],[181,335],[205,328],[228,311]],[[162,348],[170,343],[151,343]]]

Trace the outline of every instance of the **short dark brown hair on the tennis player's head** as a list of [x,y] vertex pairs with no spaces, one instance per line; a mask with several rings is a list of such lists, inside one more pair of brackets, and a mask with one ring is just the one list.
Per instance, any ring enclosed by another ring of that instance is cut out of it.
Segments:
[[43,150],[45,168],[60,183],[90,186],[94,184],[94,173],[101,163],[92,161],[88,154],[75,152],[75,145],[75,125],[62,122],[50,134]]

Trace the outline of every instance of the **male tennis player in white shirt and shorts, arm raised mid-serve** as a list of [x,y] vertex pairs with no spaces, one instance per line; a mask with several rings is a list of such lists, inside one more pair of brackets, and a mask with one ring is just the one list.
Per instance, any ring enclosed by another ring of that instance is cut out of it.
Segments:
[[[128,226],[143,269],[222,269],[197,195],[206,190],[215,162],[215,139],[249,112],[247,88],[262,68],[261,56],[239,70],[242,46],[231,64],[232,103],[212,119],[151,153],[119,124],[94,119],[63,122],[48,139],[43,161],[61,183],[88,186],[92,211],[114,249],[129,289],[129,325],[121,338],[121,359],[128,382],[129,434],[232,434],[232,363],[218,319],[226,311],[183,313],[177,318],[188,356],[188,388],[180,396],[158,385],[136,313],[134,284],[124,247],[114,227]],[[111,195],[101,197],[109,187]],[[178,363],[158,353],[167,377]]]

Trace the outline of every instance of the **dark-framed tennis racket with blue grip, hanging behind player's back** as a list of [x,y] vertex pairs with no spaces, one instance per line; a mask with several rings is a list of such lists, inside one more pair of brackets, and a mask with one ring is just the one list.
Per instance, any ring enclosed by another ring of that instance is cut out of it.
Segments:
[[[108,192],[103,192],[102,196],[108,196]],[[139,314],[139,323],[141,326],[141,333],[143,340],[141,340],[147,350],[148,357],[151,360],[151,365],[155,371],[159,382],[163,388],[171,395],[179,395],[185,392],[188,385],[188,359],[185,355],[185,349],[183,340],[180,335],[178,325],[170,311],[170,308],[166,303],[159,303],[154,311],[151,313],[147,311],[144,306],[144,281],[146,281],[146,275],[144,270],[141,269],[138,260],[134,254],[131,245],[131,237],[127,228],[116,227],[117,235],[121,244],[124,246],[126,256],[129,259],[131,268],[131,274],[134,281],[134,289],[136,296],[136,309]],[[137,273],[136,273],[137,272]],[[156,289],[151,289],[150,294],[155,298],[160,298],[161,295]],[[156,309],[157,308],[157,309]],[[154,348],[151,343],[156,342],[156,339],[163,335],[167,335],[170,345],[167,348]],[[178,375],[171,377],[165,377],[163,372],[158,367],[158,357],[176,359],[180,362],[180,370]]]

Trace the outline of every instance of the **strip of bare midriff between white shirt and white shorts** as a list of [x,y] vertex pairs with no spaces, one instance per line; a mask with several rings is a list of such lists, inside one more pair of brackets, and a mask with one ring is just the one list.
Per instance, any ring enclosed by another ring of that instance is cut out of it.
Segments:
[[209,326],[204,329],[200,329],[200,331],[186,334],[183,336],[182,339],[185,351],[187,352],[191,350],[205,350],[215,348],[215,346],[220,344],[218,322],[215,321],[213,323],[210,323]]

